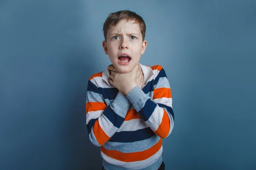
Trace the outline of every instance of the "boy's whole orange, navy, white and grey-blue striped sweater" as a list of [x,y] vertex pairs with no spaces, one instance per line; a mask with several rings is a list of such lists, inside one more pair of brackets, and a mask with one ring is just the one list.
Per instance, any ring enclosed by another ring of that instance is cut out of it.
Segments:
[[171,89],[162,66],[140,66],[143,88],[127,96],[108,82],[108,69],[88,81],[87,130],[106,170],[157,170],[162,163],[162,139],[174,124]]

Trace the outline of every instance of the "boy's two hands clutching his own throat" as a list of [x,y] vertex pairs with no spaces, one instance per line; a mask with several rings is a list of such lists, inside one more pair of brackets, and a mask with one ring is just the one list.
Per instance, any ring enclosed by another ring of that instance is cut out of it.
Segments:
[[136,65],[131,72],[123,74],[116,71],[116,68],[114,68],[113,65],[109,65],[108,69],[111,71],[108,81],[111,83],[111,85],[117,88],[119,92],[122,91],[125,95],[127,95],[135,86],[137,86],[137,82],[140,84],[142,79],[141,77],[143,76],[143,74],[137,74],[137,72],[141,71],[139,64]]

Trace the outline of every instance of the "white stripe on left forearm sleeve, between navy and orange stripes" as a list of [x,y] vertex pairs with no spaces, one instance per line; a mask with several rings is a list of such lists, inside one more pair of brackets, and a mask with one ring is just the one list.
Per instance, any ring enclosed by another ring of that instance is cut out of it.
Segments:
[[103,114],[101,117],[99,117],[99,125],[102,128],[102,130],[108,135],[108,137],[113,136],[114,133],[118,130],[117,127],[113,125],[110,120]]

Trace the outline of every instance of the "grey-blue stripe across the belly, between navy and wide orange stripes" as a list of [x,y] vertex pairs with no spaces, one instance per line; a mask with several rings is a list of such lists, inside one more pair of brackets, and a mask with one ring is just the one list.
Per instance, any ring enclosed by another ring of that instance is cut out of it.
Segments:
[[159,142],[160,137],[157,135],[152,136],[149,139],[145,139],[137,142],[106,142],[103,147],[107,150],[117,150],[122,153],[141,152],[147,150]]

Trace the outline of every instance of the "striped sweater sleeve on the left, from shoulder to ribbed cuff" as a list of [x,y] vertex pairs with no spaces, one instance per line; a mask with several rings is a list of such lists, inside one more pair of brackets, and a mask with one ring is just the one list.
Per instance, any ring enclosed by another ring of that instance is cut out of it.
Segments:
[[90,80],[86,95],[86,125],[90,141],[96,146],[105,144],[124,122],[131,102],[118,93],[107,106],[101,91]]

